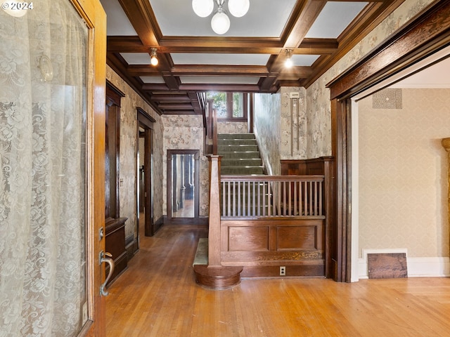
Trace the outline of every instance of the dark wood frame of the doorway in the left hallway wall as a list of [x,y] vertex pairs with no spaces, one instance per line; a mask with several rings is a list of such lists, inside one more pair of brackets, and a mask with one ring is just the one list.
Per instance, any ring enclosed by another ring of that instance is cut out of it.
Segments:
[[[141,107],[137,107],[137,139],[139,137],[143,137],[144,139],[144,153],[143,153],[143,202],[144,202],[144,219],[145,219],[145,235],[146,237],[151,237],[158,230],[155,227],[153,222],[153,185],[152,185],[152,154],[153,154],[153,123],[155,123],[155,119],[151,117],[147,112],[145,112]],[[143,128],[143,133],[139,132],[139,128]],[[137,152],[139,153],[139,141],[136,142]],[[139,154],[142,155],[142,154]],[[140,168],[136,170],[136,196],[139,193],[139,176],[140,176]],[[139,204],[137,205],[137,229],[139,237]]]

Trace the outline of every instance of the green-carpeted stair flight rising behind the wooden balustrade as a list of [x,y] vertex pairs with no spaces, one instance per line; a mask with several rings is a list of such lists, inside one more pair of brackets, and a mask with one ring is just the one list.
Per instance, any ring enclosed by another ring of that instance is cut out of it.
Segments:
[[221,176],[264,174],[258,145],[253,133],[217,135],[217,154],[221,159]]

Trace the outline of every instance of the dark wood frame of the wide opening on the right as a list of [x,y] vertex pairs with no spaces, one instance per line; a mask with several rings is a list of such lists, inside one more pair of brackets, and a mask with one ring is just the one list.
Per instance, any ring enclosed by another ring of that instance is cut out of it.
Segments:
[[450,2],[435,1],[349,70],[330,81],[335,157],[334,279],[350,282],[352,129],[350,98],[450,45]]

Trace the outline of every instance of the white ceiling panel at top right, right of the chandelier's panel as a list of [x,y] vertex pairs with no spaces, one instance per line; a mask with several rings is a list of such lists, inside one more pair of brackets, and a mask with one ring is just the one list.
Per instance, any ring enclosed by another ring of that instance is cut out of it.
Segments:
[[367,2],[328,1],[306,37],[336,39],[367,4]]

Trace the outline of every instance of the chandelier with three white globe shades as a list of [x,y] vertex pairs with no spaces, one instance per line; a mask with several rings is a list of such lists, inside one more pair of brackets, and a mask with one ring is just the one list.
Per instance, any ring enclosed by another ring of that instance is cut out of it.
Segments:
[[[217,9],[214,11],[214,2]],[[206,18],[212,11],[211,28],[216,34],[225,34],[230,28],[230,18],[224,8],[225,0],[192,0],[192,8],[200,18]],[[250,8],[250,0],[228,0],[228,11],[236,18],[244,16]]]

